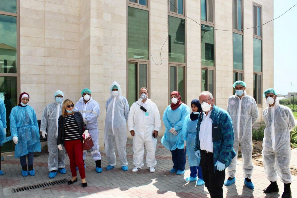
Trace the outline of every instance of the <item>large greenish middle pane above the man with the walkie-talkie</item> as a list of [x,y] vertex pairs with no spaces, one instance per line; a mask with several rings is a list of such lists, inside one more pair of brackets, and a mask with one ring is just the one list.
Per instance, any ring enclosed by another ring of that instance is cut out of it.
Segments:
[[128,7],[128,58],[149,59],[149,11]]

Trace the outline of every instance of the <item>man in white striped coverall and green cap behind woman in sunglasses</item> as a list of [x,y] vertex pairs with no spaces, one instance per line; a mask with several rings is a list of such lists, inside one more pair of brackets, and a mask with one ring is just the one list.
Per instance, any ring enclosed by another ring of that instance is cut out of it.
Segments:
[[[91,97],[91,90],[86,88],[81,91],[82,97],[74,106],[74,111],[78,111],[83,116],[83,122],[89,129],[89,133],[92,137],[94,146],[91,148],[91,155],[96,163],[96,172],[102,172],[101,167],[101,153],[99,150],[99,131],[97,118],[100,114],[99,104]],[[83,161],[85,161],[87,151],[83,151]],[[86,164],[85,164],[86,167]]]

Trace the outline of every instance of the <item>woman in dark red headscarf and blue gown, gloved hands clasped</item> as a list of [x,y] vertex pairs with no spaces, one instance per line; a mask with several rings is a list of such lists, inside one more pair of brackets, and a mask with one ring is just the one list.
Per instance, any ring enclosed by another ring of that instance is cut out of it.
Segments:
[[185,117],[190,113],[190,108],[181,101],[179,92],[171,92],[170,98],[172,103],[163,113],[163,122],[166,131],[161,139],[161,143],[171,151],[173,167],[170,173],[176,172],[177,175],[181,175],[185,172],[187,160],[182,126]]

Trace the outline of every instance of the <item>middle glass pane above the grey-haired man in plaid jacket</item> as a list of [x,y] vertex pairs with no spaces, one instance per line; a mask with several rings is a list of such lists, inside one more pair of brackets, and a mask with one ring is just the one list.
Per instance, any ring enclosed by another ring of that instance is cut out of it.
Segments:
[[201,25],[201,65],[214,67],[214,28]]

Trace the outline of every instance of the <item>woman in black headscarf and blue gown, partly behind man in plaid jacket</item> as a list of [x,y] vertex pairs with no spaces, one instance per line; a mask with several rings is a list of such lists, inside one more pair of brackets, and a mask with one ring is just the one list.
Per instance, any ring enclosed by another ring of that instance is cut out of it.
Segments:
[[[194,99],[191,102],[192,113],[187,115],[184,120],[184,125],[182,129],[182,133],[184,136],[184,148],[187,151],[188,161],[190,166],[190,176],[187,177],[185,180],[186,182],[196,181],[197,186],[201,186],[204,184],[203,177],[202,177],[202,170],[199,166],[200,158],[197,158],[195,155],[195,137],[197,134],[196,125],[197,120],[199,117],[199,113],[202,112],[201,105],[199,100]],[[197,177],[198,176],[198,177]]]

